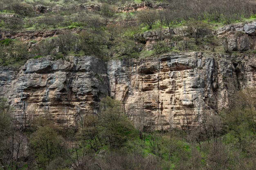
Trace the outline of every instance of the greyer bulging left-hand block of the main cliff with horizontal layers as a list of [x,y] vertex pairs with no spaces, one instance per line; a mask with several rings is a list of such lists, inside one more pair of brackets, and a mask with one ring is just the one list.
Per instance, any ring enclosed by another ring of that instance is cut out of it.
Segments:
[[79,113],[97,112],[99,99],[109,94],[106,63],[90,56],[66,60],[27,61],[10,88],[17,116],[24,108],[34,118],[47,111],[56,122],[72,126]]

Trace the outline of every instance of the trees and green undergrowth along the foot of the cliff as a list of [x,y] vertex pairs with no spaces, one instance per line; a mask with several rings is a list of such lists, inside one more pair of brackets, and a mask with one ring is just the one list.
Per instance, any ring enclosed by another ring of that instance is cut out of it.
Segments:
[[47,111],[33,123],[28,117],[18,121],[1,99],[0,165],[6,170],[255,169],[255,99],[255,90],[245,89],[229,110],[204,111],[198,127],[168,131],[141,124],[135,129],[110,97],[101,100],[99,114],[78,113],[75,127],[56,125]]

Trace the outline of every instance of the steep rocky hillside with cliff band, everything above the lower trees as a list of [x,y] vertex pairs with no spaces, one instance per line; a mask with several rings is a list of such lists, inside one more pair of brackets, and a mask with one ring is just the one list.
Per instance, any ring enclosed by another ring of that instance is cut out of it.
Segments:
[[193,1],[197,12],[168,0],[1,3],[0,95],[21,118],[49,112],[74,126],[78,114],[97,113],[111,96],[138,124],[146,117],[155,129],[192,127],[255,86],[249,0],[240,9],[236,1],[233,9]]

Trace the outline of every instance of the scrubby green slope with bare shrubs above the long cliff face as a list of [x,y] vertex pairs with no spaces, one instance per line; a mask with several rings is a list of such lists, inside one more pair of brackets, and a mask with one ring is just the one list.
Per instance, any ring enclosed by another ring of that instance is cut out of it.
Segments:
[[[245,34],[236,33],[236,41],[243,45],[229,49],[227,39],[214,31],[225,24],[252,21],[255,14],[253,0],[1,0],[0,63],[20,65],[46,55],[109,60],[182,51],[252,54],[255,41]],[[54,36],[47,33],[56,29],[61,31]],[[49,36],[22,38],[38,31]],[[149,42],[145,31],[157,38]]]

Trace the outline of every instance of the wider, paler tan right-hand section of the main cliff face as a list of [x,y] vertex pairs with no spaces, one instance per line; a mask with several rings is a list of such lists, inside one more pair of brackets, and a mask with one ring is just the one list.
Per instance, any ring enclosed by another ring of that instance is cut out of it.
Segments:
[[229,56],[190,52],[109,61],[111,96],[121,100],[135,122],[143,110],[157,129],[168,128],[170,121],[184,128],[186,117],[195,126],[203,111],[227,108],[237,90],[255,87],[255,57],[236,60],[241,63],[233,64]]

